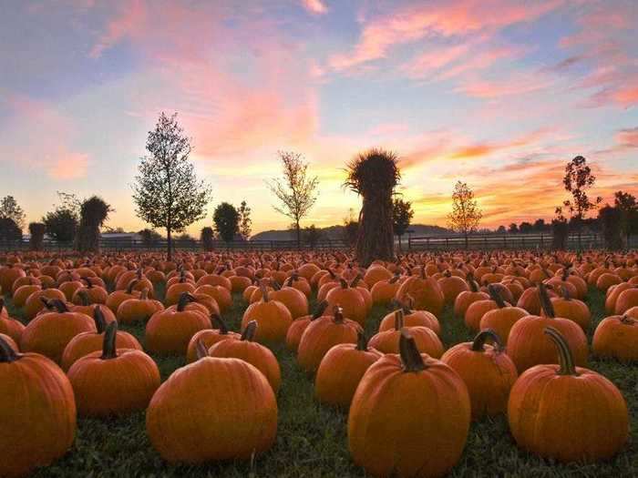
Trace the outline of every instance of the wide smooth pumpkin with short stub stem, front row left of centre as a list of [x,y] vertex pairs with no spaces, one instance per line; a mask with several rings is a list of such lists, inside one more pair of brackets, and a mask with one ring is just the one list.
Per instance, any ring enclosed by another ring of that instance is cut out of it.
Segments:
[[149,403],[146,429],[153,447],[169,463],[192,464],[247,460],[271,448],[277,402],[263,373],[247,361],[209,357],[203,343],[198,354]]

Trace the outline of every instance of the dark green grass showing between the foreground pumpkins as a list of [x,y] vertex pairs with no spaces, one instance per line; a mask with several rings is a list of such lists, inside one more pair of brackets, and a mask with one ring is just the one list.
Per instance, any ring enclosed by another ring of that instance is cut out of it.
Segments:
[[[161,291],[159,291],[161,293]],[[224,315],[233,330],[239,330],[247,304],[236,296],[235,306]],[[604,317],[603,295],[590,290],[589,305],[593,327]],[[16,317],[20,310],[8,309]],[[373,334],[386,314],[376,307],[366,325]],[[471,334],[451,310],[439,318],[446,347],[468,341]],[[123,327],[143,341],[143,325]],[[592,328],[593,331],[593,328]],[[592,331],[590,331],[590,340]],[[314,400],[312,377],[296,365],[284,346],[274,348],[282,368],[282,387],[278,395],[279,428],[277,442],[268,453],[253,463],[212,463],[201,467],[169,466],[151,448],[146,436],[144,413],[109,420],[78,420],[76,442],[67,455],[35,475],[50,476],[365,476],[352,463],[347,450],[347,413],[320,405]],[[182,357],[154,357],[162,380],[184,365]],[[465,452],[451,476],[638,476],[638,368],[615,361],[598,361],[591,357],[590,368],[601,372],[623,392],[631,415],[632,439],[623,453],[611,462],[561,465],[540,460],[521,452],[511,438],[507,419],[499,416],[471,425]],[[397,411],[409,412],[409,411]],[[600,437],[604,440],[605,437]],[[436,451],[432,451],[436,453]]]

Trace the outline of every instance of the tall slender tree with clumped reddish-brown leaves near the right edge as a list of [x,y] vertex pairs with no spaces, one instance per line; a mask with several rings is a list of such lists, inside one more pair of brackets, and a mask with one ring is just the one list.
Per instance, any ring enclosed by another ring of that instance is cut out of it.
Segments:
[[596,177],[592,175],[592,168],[587,166],[587,159],[577,156],[571,159],[565,166],[565,176],[562,184],[565,190],[571,194],[571,199],[562,202],[557,208],[557,213],[562,215],[562,208],[566,208],[571,216],[571,224],[578,233],[578,247],[581,249],[582,219],[585,219],[589,211],[598,208],[602,198],[599,196],[592,202],[587,196],[587,190],[592,188]]

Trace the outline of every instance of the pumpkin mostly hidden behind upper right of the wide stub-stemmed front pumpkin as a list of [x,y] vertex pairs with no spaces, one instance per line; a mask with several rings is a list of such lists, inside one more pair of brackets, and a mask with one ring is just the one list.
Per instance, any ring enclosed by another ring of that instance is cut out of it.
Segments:
[[273,387],[273,392],[277,393],[282,383],[279,362],[270,349],[252,341],[256,330],[257,322],[252,320],[244,329],[239,341],[218,341],[211,346],[208,353],[211,357],[242,359],[252,363],[266,376]]

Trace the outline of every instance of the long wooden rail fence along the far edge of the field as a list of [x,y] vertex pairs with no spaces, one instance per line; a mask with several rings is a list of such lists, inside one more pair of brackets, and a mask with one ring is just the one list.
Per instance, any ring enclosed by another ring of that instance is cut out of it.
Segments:
[[[144,241],[139,239],[118,238],[100,239],[100,249],[106,252],[123,251],[157,251],[167,249],[166,239]],[[462,235],[448,236],[411,236],[402,241],[402,250],[438,250],[438,249],[552,249],[551,234],[472,234],[466,239]],[[213,241],[212,250],[285,250],[298,249],[296,240],[242,240],[233,242]],[[204,250],[200,240],[174,239],[173,248],[177,250],[201,251]],[[567,249],[602,249],[604,240],[600,234],[571,234],[566,241]],[[633,235],[628,244],[629,249],[638,248],[638,235]],[[28,239],[15,241],[0,241],[0,251],[29,250],[31,245]],[[73,250],[72,242],[57,242],[46,239],[42,245],[46,251]],[[314,244],[302,244],[305,250],[334,250],[349,249],[344,240],[322,239]]]

